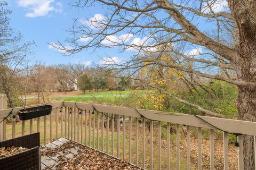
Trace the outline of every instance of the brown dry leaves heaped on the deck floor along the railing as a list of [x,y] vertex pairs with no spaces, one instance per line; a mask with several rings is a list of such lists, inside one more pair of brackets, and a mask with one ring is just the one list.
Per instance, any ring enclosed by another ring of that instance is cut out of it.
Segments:
[[[58,164],[55,169],[61,170],[85,170],[85,169],[123,169],[123,170],[135,170],[141,169],[139,167],[133,166],[126,162],[125,160],[120,160],[109,155],[103,154],[97,150],[79,145],[76,142],[67,142],[58,148],[46,149],[42,152],[42,155],[55,156],[59,151],[65,151],[68,148],[77,148],[77,155],[73,158],[63,160]],[[55,154],[54,154],[55,153]]]

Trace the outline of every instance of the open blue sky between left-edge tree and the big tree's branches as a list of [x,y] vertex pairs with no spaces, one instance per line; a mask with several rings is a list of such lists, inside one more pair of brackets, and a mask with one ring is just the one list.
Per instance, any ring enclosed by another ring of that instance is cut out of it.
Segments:
[[62,41],[69,36],[66,29],[71,28],[73,19],[92,18],[95,14],[104,13],[101,5],[91,8],[71,7],[73,1],[8,1],[12,10],[11,26],[20,31],[25,41],[34,40],[36,47],[34,60],[42,61],[46,65],[67,63],[98,63],[99,57],[115,57],[123,60],[129,57],[131,52],[120,54],[118,49],[98,49],[92,54],[92,50],[84,50],[74,56],[63,56],[57,50],[49,48],[47,43]]

